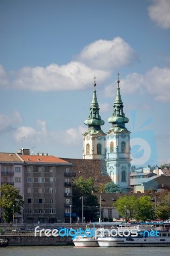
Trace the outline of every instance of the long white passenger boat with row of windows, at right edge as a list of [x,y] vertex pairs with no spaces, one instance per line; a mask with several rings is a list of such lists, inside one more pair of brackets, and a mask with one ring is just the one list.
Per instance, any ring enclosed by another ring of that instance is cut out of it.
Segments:
[[170,246],[170,232],[160,232],[154,237],[98,237],[98,244],[100,247]]

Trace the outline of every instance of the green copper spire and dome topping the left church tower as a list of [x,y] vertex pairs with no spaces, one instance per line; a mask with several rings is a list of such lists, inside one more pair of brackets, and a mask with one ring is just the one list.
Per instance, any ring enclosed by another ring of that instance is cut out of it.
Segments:
[[[96,77],[95,77],[96,78]],[[93,99],[90,105],[90,114],[88,119],[84,121],[84,124],[89,126],[89,129],[100,130],[100,125],[104,125],[104,120],[101,119],[99,115],[99,106],[97,102],[97,91],[96,91],[96,82],[94,82],[94,90],[93,90]]]

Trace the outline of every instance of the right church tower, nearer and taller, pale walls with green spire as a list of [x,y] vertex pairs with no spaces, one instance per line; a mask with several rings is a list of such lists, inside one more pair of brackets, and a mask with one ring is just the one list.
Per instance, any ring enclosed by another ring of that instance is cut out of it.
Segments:
[[114,101],[114,112],[108,119],[112,124],[106,132],[106,165],[107,173],[114,184],[120,188],[130,187],[130,131],[125,124],[128,118],[123,113],[123,102],[120,95],[120,80],[118,73],[118,86]]

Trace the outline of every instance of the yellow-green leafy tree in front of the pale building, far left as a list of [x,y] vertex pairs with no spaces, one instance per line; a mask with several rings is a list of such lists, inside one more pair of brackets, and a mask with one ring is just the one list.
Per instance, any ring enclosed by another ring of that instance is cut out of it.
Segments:
[[13,212],[21,214],[20,209],[24,206],[22,196],[19,195],[19,190],[12,185],[3,184],[0,187],[0,207],[3,208],[3,220],[6,223],[13,221]]

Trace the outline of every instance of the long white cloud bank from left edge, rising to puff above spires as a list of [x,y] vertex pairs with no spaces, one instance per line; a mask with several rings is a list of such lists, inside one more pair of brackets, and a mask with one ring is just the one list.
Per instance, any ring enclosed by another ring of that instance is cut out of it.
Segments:
[[95,74],[98,83],[104,83],[114,68],[131,65],[136,58],[135,51],[120,37],[98,40],[66,65],[23,67],[10,74],[0,66],[0,87],[41,92],[83,90],[91,86]]

